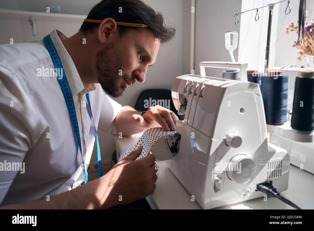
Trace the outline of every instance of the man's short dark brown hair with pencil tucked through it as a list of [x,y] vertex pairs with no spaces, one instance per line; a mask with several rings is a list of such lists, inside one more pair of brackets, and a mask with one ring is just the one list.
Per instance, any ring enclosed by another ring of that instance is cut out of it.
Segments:
[[[122,7],[122,8],[120,8]],[[119,9],[122,13],[119,13]],[[128,30],[148,30],[160,43],[169,42],[176,33],[176,29],[166,26],[164,17],[160,12],[143,3],[141,0],[102,0],[97,3],[89,12],[87,19],[103,20],[113,18],[116,22],[139,23],[147,27],[131,27],[117,25],[122,36]],[[79,31],[84,34],[91,33],[99,26],[98,23],[83,22]]]

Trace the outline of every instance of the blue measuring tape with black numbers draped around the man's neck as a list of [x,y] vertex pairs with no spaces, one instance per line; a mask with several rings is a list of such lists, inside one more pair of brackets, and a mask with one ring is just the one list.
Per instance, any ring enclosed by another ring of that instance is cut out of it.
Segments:
[[[44,41],[44,44],[46,46],[46,49],[48,50],[48,52],[50,54],[51,60],[53,62],[53,65],[54,65],[54,67],[58,71],[58,73],[57,73],[58,77],[60,77],[60,70],[62,70],[62,77],[63,78],[62,79],[58,78],[58,80],[59,80],[59,84],[60,84],[60,87],[61,87],[61,90],[62,90],[62,93],[63,93],[63,96],[64,96],[64,100],[65,100],[65,102],[67,104],[67,107],[68,107],[68,113],[69,113],[69,116],[70,116],[70,119],[71,119],[72,127],[74,129],[76,140],[78,142],[78,147],[79,147],[79,150],[81,152],[82,159],[83,159],[84,183],[86,184],[88,182],[88,178],[87,178],[85,164],[84,164],[84,158],[83,158],[83,154],[82,154],[81,138],[80,138],[78,121],[77,121],[77,117],[76,117],[76,111],[75,111],[75,106],[74,106],[74,101],[73,101],[71,89],[69,87],[67,77],[66,77],[66,75],[64,73],[64,69],[63,69],[61,60],[59,58],[57,49],[54,46],[54,44],[53,44],[53,42],[51,40],[50,35],[47,35],[46,37],[44,37],[43,41]],[[98,175],[99,175],[99,177],[101,177],[101,176],[103,176],[103,172],[102,172],[102,167],[101,167],[101,157],[100,157],[100,148],[99,148],[99,143],[98,143],[98,135],[97,135],[97,130],[96,130],[93,114],[92,114],[92,108],[90,107],[88,93],[86,94],[86,99],[87,99],[87,103],[88,103],[88,106],[89,106],[90,114],[92,116],[94,127],[95,127],[95,132],[96,132]]]

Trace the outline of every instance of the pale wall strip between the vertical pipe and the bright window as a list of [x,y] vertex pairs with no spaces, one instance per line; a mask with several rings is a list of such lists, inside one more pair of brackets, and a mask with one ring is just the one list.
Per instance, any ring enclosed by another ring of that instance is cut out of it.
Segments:
[[[231,61],[225,48],[225,32],[236,30],[234,14],[241,10],[241,0],[196,0],[195,74],[203,61]],[[237,61],[237,55],[235,55]],[[225,69],[207,69],[207,76],[221,76]],[[187,73],[188,74],[188,73]]]

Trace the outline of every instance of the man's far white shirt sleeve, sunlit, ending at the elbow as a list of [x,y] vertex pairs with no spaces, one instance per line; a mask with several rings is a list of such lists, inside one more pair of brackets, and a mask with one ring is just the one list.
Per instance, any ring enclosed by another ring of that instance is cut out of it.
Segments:
[[116,116],[122,109],[122,105],[111,99],[103,93],[103,100],[99,118],[98,127],[112,134],[118,134],[116,131]]

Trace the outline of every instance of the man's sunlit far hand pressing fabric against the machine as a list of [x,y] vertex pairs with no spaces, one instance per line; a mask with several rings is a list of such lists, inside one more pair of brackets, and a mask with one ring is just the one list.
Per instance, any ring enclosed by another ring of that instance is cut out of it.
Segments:
[[166,131],[175,131],[176,122],[179,120],[174,112],[159,105],[149,107],[143,116],[133,114],[132,118],[138,122],[143,130],[161,126]]

